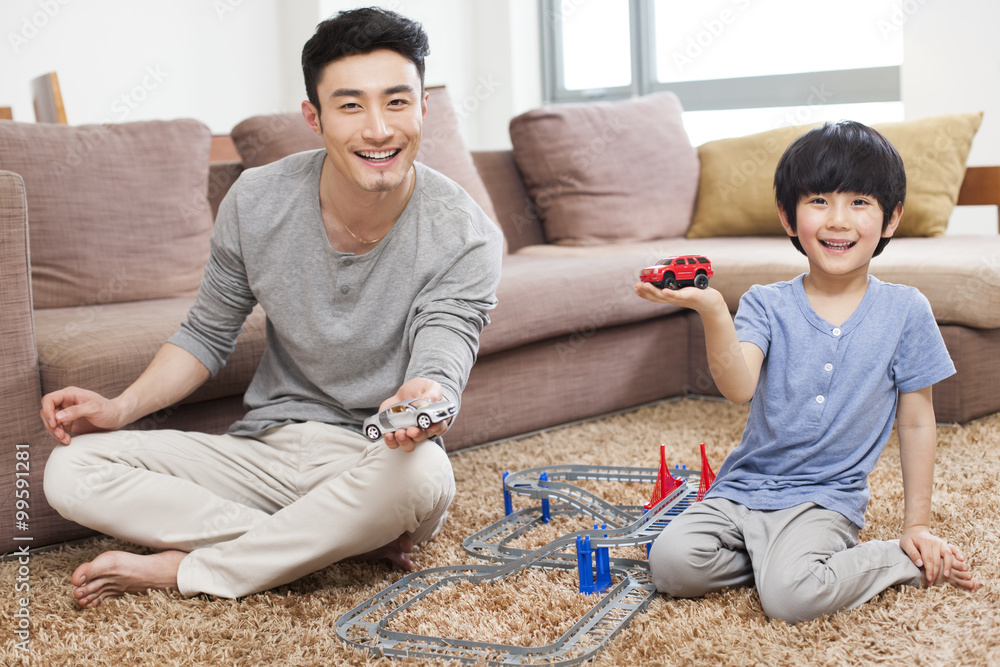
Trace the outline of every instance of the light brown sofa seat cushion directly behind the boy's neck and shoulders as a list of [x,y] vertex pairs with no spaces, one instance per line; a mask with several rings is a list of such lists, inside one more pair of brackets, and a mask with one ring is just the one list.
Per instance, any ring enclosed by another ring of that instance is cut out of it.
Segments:
[[[751,285],[789,280],[809,270],[806,258],[787,237],[671,238],[625,245],[566,247],[535,245],[514,257],[594,259],[639,257],[639,270],[660,257],[701,254],[712,260],[712,287],[730,310]],[[872,260],[870,271],[879,279],[912,285],[930,301],[941,324],[981,329],[1000,328],[1000,236],[939,236],[894,238],[885,252]]]

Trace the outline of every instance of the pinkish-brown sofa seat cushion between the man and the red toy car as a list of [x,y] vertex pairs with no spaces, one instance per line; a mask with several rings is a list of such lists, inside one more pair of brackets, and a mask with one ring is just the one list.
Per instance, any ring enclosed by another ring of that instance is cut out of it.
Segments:
[[480,355],[570,336],[585,345],[598,329],[677,313],[632,292],[642,257],[508,255],[497,289],[497,307],[480,338]]

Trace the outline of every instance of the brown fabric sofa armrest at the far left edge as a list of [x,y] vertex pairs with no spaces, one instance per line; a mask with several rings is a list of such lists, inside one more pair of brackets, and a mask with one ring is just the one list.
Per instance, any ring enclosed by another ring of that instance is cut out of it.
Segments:
[[[38,418],[41,382],[32,317],[28,203],[18,174],[0,171],[0,551],[37,546],[16,541],[41,536],[45,507],[42,471],[55,445]],[[44,450],[44,451],[43,451]],[[16,501],[24,500],[28,521],[16,520]],[[24,528],[19,532],[17,525]]]

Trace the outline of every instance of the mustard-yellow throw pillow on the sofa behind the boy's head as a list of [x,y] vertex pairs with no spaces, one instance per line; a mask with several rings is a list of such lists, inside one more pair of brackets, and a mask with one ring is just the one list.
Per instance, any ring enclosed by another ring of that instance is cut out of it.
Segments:
[[[899,151],[906,203],[896,236],[941,236],[948,226],[982,112],[872,125]],[[783,236],[774,170],[785,148],[816,125],[784,127],[698,148],[701,182],[688,238]]]

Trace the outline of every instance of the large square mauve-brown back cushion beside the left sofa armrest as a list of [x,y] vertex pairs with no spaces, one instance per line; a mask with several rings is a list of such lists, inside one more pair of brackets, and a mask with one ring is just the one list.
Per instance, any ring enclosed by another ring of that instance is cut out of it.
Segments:
[[212,135],[195,120],[0,121],[24,178],[35,308],[194,294],[208,261]]

